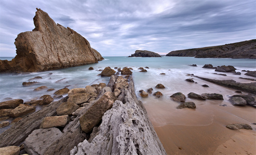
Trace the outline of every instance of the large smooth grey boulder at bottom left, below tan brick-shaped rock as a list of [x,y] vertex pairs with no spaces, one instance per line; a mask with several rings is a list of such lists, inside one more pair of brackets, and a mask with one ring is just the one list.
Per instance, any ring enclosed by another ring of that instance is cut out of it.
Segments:
[[34,130],[24,141],[24,148],[29,154],[45,154],[45,150],[62,136],[58,128]]

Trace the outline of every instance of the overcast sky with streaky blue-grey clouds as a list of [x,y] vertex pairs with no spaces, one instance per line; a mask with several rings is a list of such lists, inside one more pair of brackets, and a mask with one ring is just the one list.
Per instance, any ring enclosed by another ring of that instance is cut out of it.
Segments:
[[1,0],[0,56],[16,55],[15,38],[34,29],[36,8],[102,56],[167,54],[256,38],[256,0]]

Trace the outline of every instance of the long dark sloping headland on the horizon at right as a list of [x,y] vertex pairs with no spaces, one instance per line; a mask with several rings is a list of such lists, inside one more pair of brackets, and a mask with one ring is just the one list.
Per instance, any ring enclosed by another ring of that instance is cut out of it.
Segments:
[[198,49],[171,51],[166,56],[196,58],[256,58],[256,39]]

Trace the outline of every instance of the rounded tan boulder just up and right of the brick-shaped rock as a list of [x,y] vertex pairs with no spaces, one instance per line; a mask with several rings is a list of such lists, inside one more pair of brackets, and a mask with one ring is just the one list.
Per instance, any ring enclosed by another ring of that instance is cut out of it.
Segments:
[[63,102],[57,108],[57,115],[71,115],[79,106],[72,102]]

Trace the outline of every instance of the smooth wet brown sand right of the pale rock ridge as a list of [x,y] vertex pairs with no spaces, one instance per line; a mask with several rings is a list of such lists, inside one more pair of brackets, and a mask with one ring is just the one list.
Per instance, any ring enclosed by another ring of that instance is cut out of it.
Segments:
[[[164,97],[160,99],[152,95],[148,98],[138,97],[167,154],[256,154],[256,126],[252,125],[256,123],[255,108],[233,106],[228,102],[229,97],[236,94],[235,89],[197,81],[210,86],[208,93],[222,94],[224,100],[186,98],[186,102],[196,104],[196,109],[178,110],[176,107],[179,103],[169,97],[172,94],[170,89],[161,90]],[[205,90],[204,87],[191,87],[180,92],[187,97],[189,92],[201,94]],[[220,106],[222,104],[227,106]],[[247,123],[253,130],[227,129],[226,125],[232,123]]]

